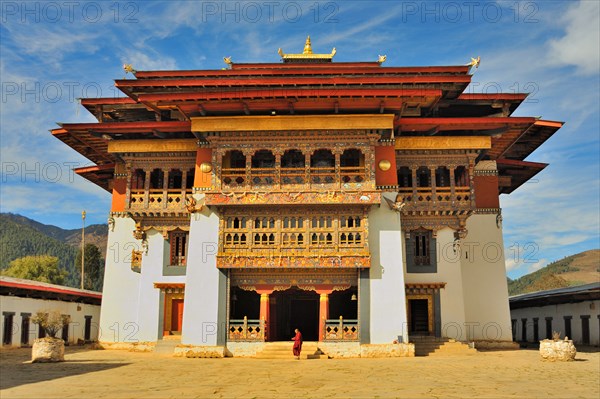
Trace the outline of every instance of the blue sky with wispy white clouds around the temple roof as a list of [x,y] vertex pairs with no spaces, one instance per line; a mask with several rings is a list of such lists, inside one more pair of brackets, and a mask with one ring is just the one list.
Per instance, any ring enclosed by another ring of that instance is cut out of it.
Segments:
[[110,195],[70,169],[89,165],[48,132],[92,122],[79,97],[118,95],[137,70],[279,62],[277,49],[336,47],[335,61],[460,65],[468,92],[531,92],[515,116],[565,126],[528,160],[550,163],[501,197],[511,277],[600,247],[600,2],[95,1],[0,3],[0,209],[64,228],[105,223]]

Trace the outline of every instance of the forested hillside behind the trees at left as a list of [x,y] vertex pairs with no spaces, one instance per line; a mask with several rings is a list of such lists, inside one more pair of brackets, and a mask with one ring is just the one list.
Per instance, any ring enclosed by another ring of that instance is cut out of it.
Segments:
[[[85,228],[85,241],[94,244],[104,256],[108,228],[90,225]],[[81,230],[65,230],[46,225],[21,215],[0,213],[0,270],[10,262],[27,255],[51,255],[58,258],[61,269],[68,272],[65,285],[79,286],[75,257],[81,245]]]

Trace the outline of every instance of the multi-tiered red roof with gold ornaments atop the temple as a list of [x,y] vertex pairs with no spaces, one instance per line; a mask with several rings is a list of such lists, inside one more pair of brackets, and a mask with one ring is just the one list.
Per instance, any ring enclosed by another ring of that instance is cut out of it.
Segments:
[[500,191],[510,193],[546,166],[525,158],[562,126],[511,117],[526,93],[465,93],[469,65],[383,67],[284,55],[284,63],[226,59],[224,70],[135,71],[136,79],[115,81],[126,97],[82,100],[99,123],[63,124],[52,134],[96,163],[76,171],[108,190],[117,161],[108,141],[199,139],[194,117],[394,114],[396,137],[491,136],[481,159],[497,161]]

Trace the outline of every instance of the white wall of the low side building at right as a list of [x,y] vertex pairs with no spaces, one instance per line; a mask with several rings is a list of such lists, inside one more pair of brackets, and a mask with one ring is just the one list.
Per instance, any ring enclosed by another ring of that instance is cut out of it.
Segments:
[[511,319],[517,321],[515,341],[523,340],[522,319],[527,319],[526,334],[527,342],[534,342],[533,319],[538,319],[538,340],[546,338],[546,317],[552,317],[552,331],[561,333],[565,337],[565,316],[571,316],[571,336],[575,344],[582,343],[582,321],[581,316],[590,316],[590,345],[600,345],[600,300],[584,301],[579,303],[564,303],[558,305],[530,307],[514,309],[510,311]]

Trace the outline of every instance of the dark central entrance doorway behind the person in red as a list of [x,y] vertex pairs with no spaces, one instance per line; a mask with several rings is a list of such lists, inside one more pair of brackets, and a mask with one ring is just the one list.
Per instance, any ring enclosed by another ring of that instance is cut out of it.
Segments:
[[289,341],[298,328],[305,341],[319,339],[319,295],[291,288],[271,294],[269,341]]

